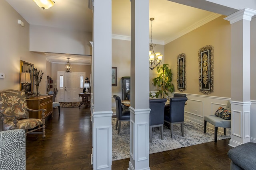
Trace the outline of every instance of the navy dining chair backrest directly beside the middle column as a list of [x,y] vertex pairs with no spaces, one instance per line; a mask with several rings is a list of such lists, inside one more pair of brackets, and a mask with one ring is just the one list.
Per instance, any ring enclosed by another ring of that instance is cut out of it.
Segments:
[[149,116],[150,126],[164,124],[164,106],[166,101],[166,98],[149,99],[149,108],[151,109]]

